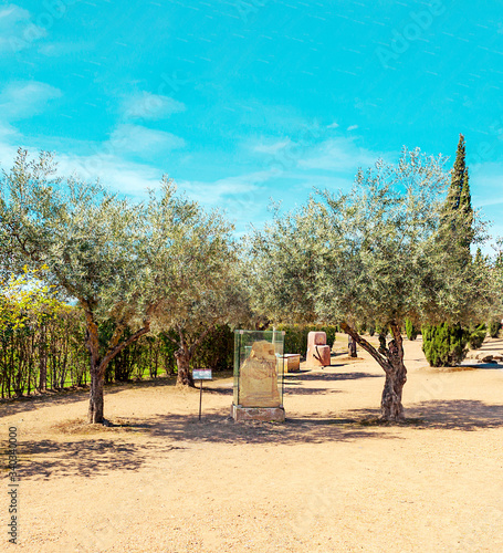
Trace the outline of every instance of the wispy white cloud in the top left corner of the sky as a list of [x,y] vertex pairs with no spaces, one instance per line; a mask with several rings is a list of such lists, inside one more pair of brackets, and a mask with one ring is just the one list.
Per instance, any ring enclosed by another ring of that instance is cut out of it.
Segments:
[[12,3],[0,8],[0,52],[19,52],[45,35],[28,10]]

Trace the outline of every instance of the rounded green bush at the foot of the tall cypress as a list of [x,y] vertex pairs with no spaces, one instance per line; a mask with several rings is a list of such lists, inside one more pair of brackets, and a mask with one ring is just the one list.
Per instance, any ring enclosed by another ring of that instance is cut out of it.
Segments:
[[453,367],[467,356],[470,332],[460,324],[422,326],[422,351],[432,367]]

